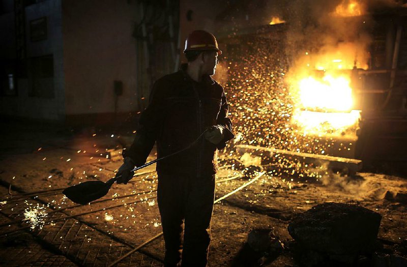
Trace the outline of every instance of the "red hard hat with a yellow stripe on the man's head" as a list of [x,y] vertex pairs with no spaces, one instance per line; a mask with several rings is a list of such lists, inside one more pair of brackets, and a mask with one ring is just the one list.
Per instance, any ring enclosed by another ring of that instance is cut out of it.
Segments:
[[222,53],[219,50],[215,36],[200,29],[190,33],[187,40],[185,40],[184,53],[192,50],[216,50],[219,55]]

